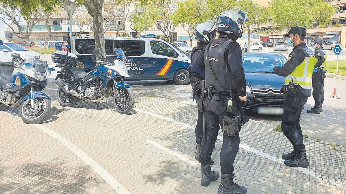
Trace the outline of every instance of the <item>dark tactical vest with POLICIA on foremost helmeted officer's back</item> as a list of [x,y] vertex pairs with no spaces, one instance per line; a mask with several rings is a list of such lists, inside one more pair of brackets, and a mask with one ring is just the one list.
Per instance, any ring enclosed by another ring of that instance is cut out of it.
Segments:
[[[206,49],[204,51],[204,66],[206,68],[206,88],[208,88],[209,86],[213,86],[215,90],[220,92],[229,92],[234,88],[233,80],[231,77],[232,72],[225,63],[225,50],[231,42],[233,42],[233,40],[228,40],[222,44],[215,44],[211,42],[210,46],[208,45],[209,49]],[[222,86],[224,86],[228,91],[218,84],[215,77],[217,78],[219,83]]]

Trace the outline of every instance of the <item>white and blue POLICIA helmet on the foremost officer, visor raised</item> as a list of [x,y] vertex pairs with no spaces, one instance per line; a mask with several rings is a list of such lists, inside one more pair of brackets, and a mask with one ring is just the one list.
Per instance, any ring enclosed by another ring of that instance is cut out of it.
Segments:
[[243,23],[249,18],[245,11],[240,9],[231,9],[218,15],[216,22],[210,33],[224,31],[228,34],[235,34],[238,38],[243,35]]

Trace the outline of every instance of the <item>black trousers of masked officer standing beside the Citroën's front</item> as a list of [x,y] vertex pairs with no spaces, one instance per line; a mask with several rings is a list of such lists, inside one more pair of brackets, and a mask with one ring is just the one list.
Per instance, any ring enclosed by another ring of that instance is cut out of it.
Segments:
[[308,97],[302,94],[297,97],[286,93],[283,105],[281,129],[287,139],[290,140],[294,149],[298,151],[305,148],[303,133],[300,127],[300,114],[307,101]]

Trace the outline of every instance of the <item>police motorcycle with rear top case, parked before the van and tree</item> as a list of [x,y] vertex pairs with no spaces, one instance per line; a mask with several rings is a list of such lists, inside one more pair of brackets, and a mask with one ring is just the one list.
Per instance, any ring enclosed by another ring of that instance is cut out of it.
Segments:
[[[59,58],[62,54],[60,52],[54,53],[52,59]],[[56,77],[56,84],[59,86],[57,100],[61,106],[72,107],[78,100],[98,103],[104,97],[112,96],[119,113],[126,114],[133,108],[134,93],[131,86],[124,82],[125,77],[130,77],[126,66],[128,60],[121,48],[115,48],[114,52],[117,55],[114,62],[107,59],[95,61],[99,65],[90,72],[68,65],[65,59],[65,65]],[[67,58],[77,59],[74,54],[66,54]]]

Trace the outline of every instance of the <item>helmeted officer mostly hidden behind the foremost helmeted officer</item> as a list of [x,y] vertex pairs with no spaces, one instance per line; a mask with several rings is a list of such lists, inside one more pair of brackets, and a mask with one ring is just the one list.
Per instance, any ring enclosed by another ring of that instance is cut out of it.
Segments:
[[[191,51],[191,73],[190,82],[192,86],[193,99],[196,100],[198,107],[198,118],[195,127],[196,134],[196,155],[195,159],[199,161],[201,152],[201,143],[203,139],[203,112],[202,112],[202,100],[201,92],[203,88],[202,80],[205,79],[204,72],[204,60],[202,49],[213,39],[215,39],[216,33],[210,33],[209,31],[213,27],[213,23],[205,22],[196,26],[194,30],[195,39],[197,40],[197,46]],[[203,68],[202,68],[203,67]],[[194,77],[195,76],[195,77]],[[215,147],[215,146],[214,146]],[[210,164],[214,164],[213,159],[210,160]]]

